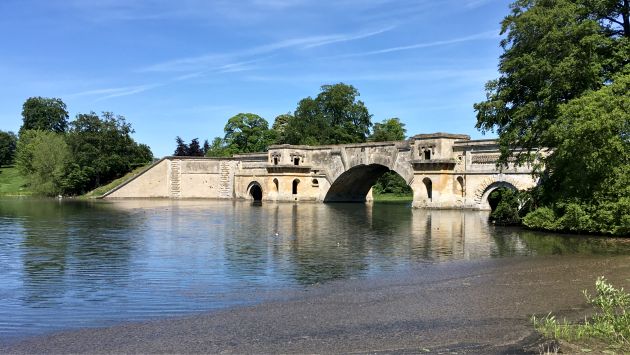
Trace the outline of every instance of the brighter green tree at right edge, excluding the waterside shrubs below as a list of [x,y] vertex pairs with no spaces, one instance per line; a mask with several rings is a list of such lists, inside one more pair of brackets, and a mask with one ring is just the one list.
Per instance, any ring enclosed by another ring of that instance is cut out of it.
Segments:
[[630,74],[560,107],[549,130],[559,144],[545,160],[550,201],[630,196],[629,117]]

